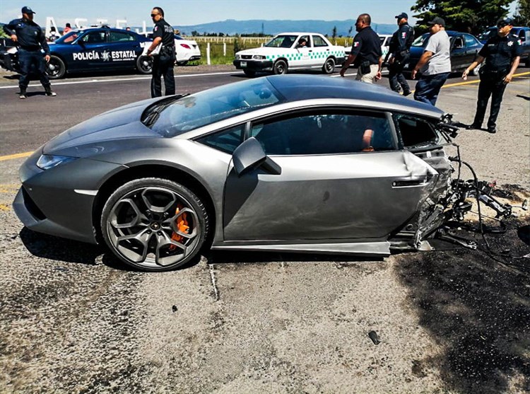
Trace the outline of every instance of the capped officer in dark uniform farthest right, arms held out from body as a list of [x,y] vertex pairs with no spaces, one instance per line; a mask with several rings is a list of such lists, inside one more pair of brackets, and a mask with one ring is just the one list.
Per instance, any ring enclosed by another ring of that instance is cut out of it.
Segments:
[[521,59],[522,46],[517,35],[511,35],[512,18],[500,18],[497,21],[497,34],[491,37],[478,52],[473,63],[462,74],[467,79],[469,71],[473,70],[485,59],[485,64],[478,73],[481,83],[478,85],[478,100],[476,103],[475,120],[467,129],[481,129],[488,100],[491,98],[490,117],[488,119],[488,132],[496,133],[497,116],[502,103],[505,88],[514,75],[519,60]]

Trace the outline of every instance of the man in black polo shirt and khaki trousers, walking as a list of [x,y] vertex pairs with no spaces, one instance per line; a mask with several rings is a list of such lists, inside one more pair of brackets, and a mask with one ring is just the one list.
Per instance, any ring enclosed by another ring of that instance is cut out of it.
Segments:
[[383,64],[381,40],[379,35],[370,27],[372,18],[367,13],[362,13],[355,22],[355,30],[358,33],[353,38],[350,56],[344,62],[341,69],[341,76],[344,76],[348,66],[358,67],[358,81],[374,83],[381,79],[381,66]]

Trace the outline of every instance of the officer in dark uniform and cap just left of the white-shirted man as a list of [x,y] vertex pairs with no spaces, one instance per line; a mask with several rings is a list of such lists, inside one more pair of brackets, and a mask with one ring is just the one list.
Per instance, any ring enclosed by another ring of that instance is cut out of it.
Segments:
[[408,24],[406,13],[402,12],[396,15],[396,19],[399,29],[392,35],[387,54],[387,58],[391,56],[388,66],[390,88],[394,92],[399,92],[402,88],[403,95],[409,95],[411,88],[403,75],[403,68],[411,57],[410,50],[414,40],[414,29]]

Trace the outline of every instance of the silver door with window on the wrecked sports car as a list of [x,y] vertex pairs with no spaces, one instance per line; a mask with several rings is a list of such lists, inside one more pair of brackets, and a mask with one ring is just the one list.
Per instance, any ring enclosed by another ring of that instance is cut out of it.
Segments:
[[397,149],[384,112],[298,110],[252,122],[248,135],[280,170],[237,175],[231,165],[225,241],[386,239],[437,178],[427,163]]

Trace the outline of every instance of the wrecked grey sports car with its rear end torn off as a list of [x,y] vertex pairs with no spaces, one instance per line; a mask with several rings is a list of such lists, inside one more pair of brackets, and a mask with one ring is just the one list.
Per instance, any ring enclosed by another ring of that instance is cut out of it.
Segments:
[[71,127],[23,163],[13,208],[148,271],[204,245],[386,256],[444,219],[447,127],[432,105],[349,79],[247,79]]

